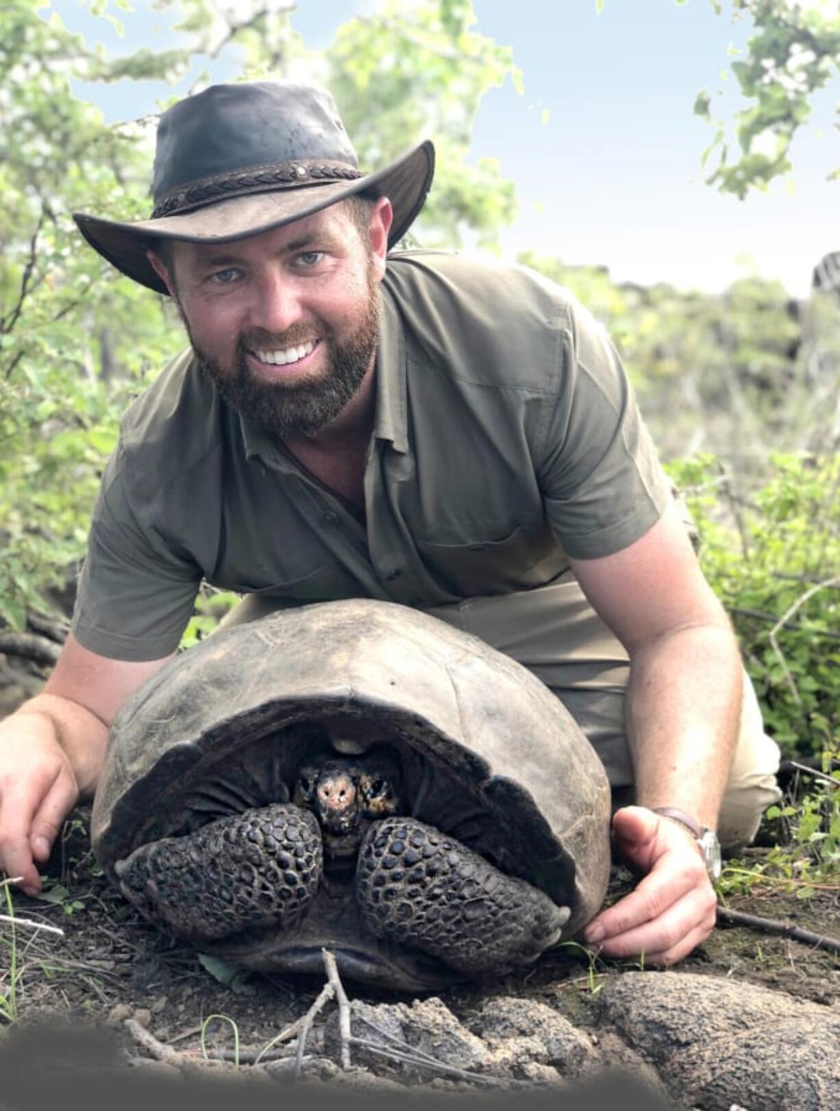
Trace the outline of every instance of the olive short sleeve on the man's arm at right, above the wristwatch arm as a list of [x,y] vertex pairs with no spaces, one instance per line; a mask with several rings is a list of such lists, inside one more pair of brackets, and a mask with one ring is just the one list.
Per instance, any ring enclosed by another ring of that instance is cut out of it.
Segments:
[[546,514],[572,559],[611,556],[659,520],[671,491],[618,352],[574,300],[559,381],[537,461]]

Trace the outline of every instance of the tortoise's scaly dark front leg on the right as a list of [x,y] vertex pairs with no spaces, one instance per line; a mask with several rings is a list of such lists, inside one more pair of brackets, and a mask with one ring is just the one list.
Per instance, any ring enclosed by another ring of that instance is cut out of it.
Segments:
[[374,822],[359,853],[362,918],[461,972],[501,972],[553,945],[569,919],[544,892],[412,818]]

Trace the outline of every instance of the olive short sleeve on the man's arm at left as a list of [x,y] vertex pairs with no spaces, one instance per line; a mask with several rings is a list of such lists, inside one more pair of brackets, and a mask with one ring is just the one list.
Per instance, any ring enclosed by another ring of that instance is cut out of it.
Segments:
[[120,448],[108,462],[79,575],[72,631],[79,643],[116,660],[158,660],[173,652],[192,613],[200,568],[156,528],[131,497]]

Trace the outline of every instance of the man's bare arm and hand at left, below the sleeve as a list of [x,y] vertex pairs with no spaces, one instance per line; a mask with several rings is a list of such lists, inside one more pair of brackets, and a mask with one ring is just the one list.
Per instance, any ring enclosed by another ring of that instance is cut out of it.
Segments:
[[43,692],[0,723],[0,868],[24,891],[40,890],[36,862],[93,793],[117,710],[169,659],[109,660],[70,634]]

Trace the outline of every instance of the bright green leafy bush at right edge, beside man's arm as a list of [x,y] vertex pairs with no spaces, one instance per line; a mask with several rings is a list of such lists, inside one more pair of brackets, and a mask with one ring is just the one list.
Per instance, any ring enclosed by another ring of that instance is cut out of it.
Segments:
[[788,755],[840,749],[840,457],[774,454],[749,493],[711,457],[668,469],[732,617],[768,732]]

